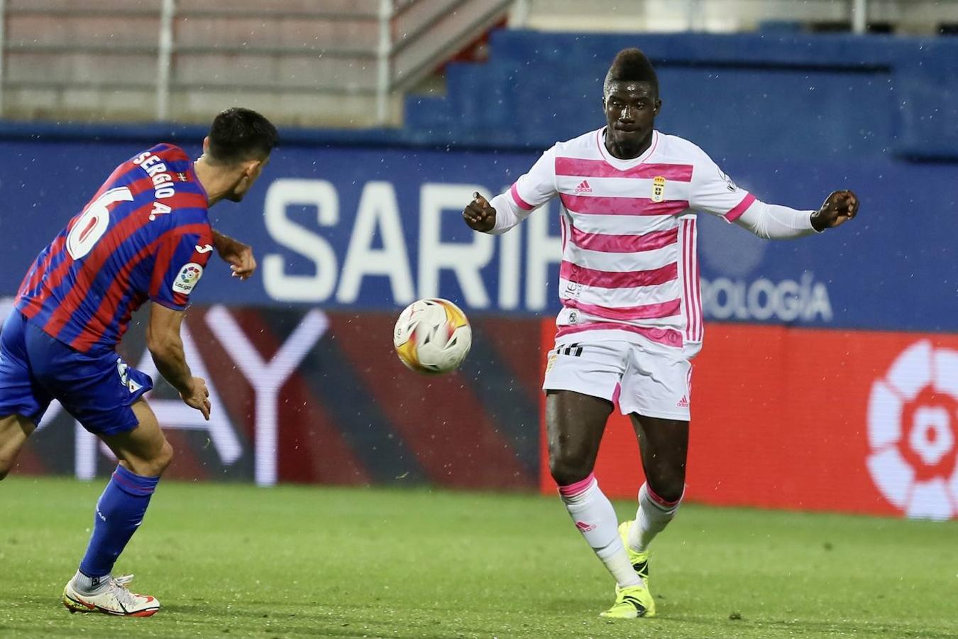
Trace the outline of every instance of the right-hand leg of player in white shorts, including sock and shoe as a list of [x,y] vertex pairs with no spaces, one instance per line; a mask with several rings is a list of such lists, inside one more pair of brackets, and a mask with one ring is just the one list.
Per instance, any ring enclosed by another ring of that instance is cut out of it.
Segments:
[[642,450],[646,483],[639,489],[635,521],[620,528],[632,567],[649,583],[649,544],[669,525],[685,491],[689,422],[631,415]]

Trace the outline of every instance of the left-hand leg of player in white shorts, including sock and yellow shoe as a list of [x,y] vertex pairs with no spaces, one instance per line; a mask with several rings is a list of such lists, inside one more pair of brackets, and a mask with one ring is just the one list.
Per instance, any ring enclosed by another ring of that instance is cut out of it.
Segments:
[[655,605],[632,569],[619,538],[615,510],[592,473],[611,413],[612,402],[607,399],[573,391],[549,391],[549,471],[559,485],[562,503],[576,528],[616,581],[616,604],[603,614],[623,618],[652,616]]

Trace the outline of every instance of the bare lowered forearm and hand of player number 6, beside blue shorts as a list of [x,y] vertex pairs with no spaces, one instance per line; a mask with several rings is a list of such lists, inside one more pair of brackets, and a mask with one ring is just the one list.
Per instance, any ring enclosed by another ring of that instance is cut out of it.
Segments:
[[182,310],[173,310],[154,302],[149,308],[147,348],[156,364],[156,370],[179,391],[183,402],[209,420],[210,392],[206,389],[206,380],[193,377],[190,366],[186,363],[183,340],[179,334],[182,323]]

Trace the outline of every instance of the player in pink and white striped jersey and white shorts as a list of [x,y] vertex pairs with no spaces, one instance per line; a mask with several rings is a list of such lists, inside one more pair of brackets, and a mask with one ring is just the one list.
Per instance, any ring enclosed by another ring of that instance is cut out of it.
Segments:
[[[818,211],[796,211],[742,190],[701,148],[655,130],[658,80],[638,49],[612,62],[603,108],[606,126],[549,148],[491,201],[475,194],[463,217],[501,234],[559,197],[562,309],[543,383],[549,469],[616,581],[603,616],[651,617],[649,544],[685,491],[692,359],[702,344],[696,212],[785,240],[852,219],[858,199],[836,191]],[[593,474],[615,404],[631,419],[646,475],[635,519],[621,526]]]

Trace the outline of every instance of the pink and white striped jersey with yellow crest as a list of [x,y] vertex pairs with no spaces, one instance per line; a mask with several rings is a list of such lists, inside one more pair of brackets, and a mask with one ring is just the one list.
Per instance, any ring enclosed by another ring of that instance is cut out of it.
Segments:
[[[545,151],[507,194],[493,198],[492,233],[503,233],[559,195],[562,262],[557,337],[697,346],[702,302],[696,211],[731,222],[755,196],[740,189],[691,142],[652,132],[640,157],[620,160],[604,128]],[[761,203],[760,203],[761,204]]]

